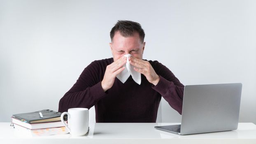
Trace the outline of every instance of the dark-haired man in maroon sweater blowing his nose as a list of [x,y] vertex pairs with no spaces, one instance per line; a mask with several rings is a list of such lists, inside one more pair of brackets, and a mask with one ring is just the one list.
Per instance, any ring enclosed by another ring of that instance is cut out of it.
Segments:
[[[59,112],[95,106],[96,122],[156,122],[161,97],[182,114],[184,85],[158,61],[143,60],[144,30],[139,23],[118,21],[110,32],[113,58],[95,60],[61,98]],[[141,73],[141,84],[130,76],[122,83],[116,76],[126,64],[124,55]]]

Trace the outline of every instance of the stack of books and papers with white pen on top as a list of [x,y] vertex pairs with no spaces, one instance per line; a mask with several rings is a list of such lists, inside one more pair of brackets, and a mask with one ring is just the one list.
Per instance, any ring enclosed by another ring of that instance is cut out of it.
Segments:
[[[67,123],[67,116],[64,116]],[[12,115],[15,130],[22,135],[42,136],[67,134],[69,131],[61,122],[61,113],[44,109],[23,114]]]

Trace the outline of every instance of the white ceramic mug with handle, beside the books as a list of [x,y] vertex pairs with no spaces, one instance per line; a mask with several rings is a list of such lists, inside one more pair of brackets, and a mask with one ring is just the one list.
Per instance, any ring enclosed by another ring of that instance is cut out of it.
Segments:
[[[63,116],[67,114],[67,124]],[[61,114],[61,121],[73,136],[82,136],[88,132],[89,110],[86,108],[71,108]]]

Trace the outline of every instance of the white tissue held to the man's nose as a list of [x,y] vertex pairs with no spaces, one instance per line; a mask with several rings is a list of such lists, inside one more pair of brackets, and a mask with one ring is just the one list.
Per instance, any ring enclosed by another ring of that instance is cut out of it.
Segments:
[[124,55],[126,57],[126,65],[125,65],[125,69],[120,72],[119,74],[117,74],[117,79],[119,79],[122,83],[126,82],[127,79],[130,77],[130,75],[132,75],[133,80],[137,83],[140,84],[141,83],[141,74],[139,72],[136,72],[133,68],[133,65],[130,65],[129,62],[129,57],[130,54],[126,54]]

